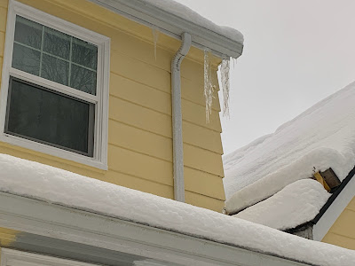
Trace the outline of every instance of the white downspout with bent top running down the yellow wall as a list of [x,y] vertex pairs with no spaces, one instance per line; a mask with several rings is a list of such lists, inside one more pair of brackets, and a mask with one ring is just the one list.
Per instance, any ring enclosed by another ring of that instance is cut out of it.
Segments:
[[171,61],[172,149],[174,199],[185,202],[183,118],[181,113],[180,65],[191,47],[191,35],[183,33],[182,43]]

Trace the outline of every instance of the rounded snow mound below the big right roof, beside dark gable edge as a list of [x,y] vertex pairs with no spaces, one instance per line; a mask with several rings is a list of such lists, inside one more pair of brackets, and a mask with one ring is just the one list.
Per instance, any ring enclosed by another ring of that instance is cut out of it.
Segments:
[[318,181],[298,180],[288,184],[271,198],[233,216],[274,229],[292,229],[318,215],[329,196]]

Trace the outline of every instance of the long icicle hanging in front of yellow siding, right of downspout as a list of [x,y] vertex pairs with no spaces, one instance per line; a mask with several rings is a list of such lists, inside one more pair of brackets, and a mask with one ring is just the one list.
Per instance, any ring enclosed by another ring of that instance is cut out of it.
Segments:
[[211,113],[213,91],[215,86],[212,84],[212,70],[210,62],[210,51],[204,51],[204,95],[206,100],[206,121],[209,123],[209,114]]

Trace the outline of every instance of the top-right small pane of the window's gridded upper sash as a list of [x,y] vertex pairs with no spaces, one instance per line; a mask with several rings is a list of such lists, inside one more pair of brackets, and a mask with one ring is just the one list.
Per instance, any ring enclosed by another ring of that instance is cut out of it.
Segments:
[[76,64],[89,67],[93,70],[98,68],[98,47],[73,38],[72,60]]

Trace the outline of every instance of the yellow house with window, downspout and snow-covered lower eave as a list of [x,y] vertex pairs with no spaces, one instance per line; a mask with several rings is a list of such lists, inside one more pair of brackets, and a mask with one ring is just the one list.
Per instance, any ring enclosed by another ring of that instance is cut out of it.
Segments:
[[219,213],[242,42],[169,0],[0,0],[0,265],[355,263]]

